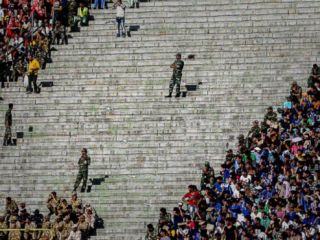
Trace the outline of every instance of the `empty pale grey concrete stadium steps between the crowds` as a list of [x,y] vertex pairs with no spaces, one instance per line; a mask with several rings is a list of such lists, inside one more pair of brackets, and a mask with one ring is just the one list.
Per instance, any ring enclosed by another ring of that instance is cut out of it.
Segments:
[[[292,81],[305,86],[319,60],[319,12],[317,0],[151,1],[127,9],[127,26],[140,29],[116,38],[114,11],[92,10],[90,26],[55,46],[41,71],[52,88],[26,94],[19,82],[1,92],[1,116],[14,103],[13,131],[24,138],[1,147],[0,197],[47,211],[50,191],[70,197],[87,147],[90,178],[108,176],[81,194],[105,221],[92,238],[142,239],[160,207],[170,211],[199,183],[204,161],[218,170]],[[177,52],[183,81],[198,89],[167,99]]]

